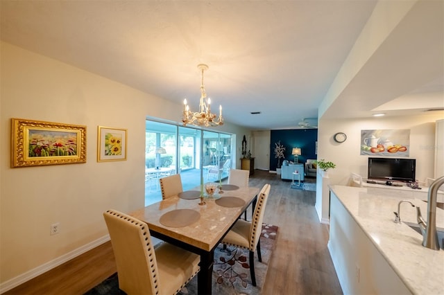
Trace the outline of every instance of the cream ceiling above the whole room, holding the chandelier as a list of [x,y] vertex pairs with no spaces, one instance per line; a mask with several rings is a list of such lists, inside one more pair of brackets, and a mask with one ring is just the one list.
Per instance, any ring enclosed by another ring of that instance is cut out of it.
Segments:
[[[325,118],[444,107],[443,2],[429,2],[441,10],[415,6]],[[225,121],[298,128],[303,118],[316,125],[318,107],[376,3],[1,0],[0,37],[167,100],[187,98],[191,110],[200,98],[197,65],[205,63],[207,95],[214,109],[223,106]],[[429,10],[438,19],[427,17]]]

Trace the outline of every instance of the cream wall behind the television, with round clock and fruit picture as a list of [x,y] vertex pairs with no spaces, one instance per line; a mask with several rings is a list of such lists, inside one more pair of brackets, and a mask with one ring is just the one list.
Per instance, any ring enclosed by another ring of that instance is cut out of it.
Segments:
[[[329,170],[330,184],[347,184],[351,172],[367,177],[368,156],[360,155],[362,129],[410,129],[409,158],[416,159],[416,179],[424,182],[427,177],[434,177],[435,152],[438,150],[435,145],[435,125],[436,120],[441,118],[442,111],[422,116],[321,119],[318,126],[318,159],[336,163],[336,168]],[[347,140],[336,143],[333,140],[336,132],[347,134]],[[326,213],[330,206],[329,200],[321,194],[316,191],[316,202],[322,200],[322,206],[316,204],[316,208],[320,220],[328,220]]]

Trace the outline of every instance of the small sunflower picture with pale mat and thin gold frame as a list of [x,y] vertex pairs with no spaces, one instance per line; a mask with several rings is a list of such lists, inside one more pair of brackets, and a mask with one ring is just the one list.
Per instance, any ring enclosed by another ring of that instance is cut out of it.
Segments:
[[126,129],[99,126],[97,161],[126,161]]

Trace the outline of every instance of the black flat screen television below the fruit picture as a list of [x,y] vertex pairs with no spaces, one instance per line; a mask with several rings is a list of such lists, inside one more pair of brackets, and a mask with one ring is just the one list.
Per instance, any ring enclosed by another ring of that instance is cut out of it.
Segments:
[[416,159],[368,158],[368,179],[415,182]]

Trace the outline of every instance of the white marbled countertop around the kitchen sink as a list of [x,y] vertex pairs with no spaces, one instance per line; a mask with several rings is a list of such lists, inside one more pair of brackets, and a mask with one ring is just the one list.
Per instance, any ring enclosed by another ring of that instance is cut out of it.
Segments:
[[[393,222],[398,202],[404,199],[393,190],[330,186],[345,209],[375,244],[382,256],[413,294],[444,294],[444,251],[422,247],[422,235],[405,222],[417,224],[416,208],[400,206],[402,224]],[[421,208],[427,220],[427,203],[408,199]],[[436,226],[444,229],[444,211],[436,208]]]

